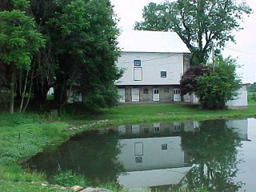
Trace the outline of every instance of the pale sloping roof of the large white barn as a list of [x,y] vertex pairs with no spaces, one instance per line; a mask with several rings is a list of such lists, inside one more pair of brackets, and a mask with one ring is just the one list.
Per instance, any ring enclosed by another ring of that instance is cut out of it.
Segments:
[[174,32],[124,30],[118,37],[118,46],[124,52],[190,52]]

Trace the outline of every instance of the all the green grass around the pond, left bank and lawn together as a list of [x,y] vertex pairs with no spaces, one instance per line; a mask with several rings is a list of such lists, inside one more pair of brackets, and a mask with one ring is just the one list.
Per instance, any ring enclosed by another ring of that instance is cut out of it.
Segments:
[[[254,101],[250,101],[247,110],[198,110],[195,106],[182,104],[149,103],[123,104],[92,113],[80,107],[74,114],[65,114],[61,118],[51,114],[0,114],[0,191],[63,191],[53,189],[51,185],[42,186],[46,176],[25,172],[18,162],[89,128],[127,122],[256,117]],[[94,123],[106,119],[107,122]]]

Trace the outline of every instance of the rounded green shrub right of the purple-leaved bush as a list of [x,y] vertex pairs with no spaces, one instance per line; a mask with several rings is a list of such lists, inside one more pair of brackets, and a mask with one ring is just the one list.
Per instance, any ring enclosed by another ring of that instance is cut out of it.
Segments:
[[234,59],[217,58],[215,63],[212,73],[197,78],[196,94],[203,109],[225,108],[226,102],[237,96],[236,90],[240,87]]

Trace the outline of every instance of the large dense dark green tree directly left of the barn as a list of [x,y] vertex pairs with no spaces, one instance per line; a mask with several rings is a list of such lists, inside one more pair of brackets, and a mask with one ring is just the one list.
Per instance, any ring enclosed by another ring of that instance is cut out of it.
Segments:
[[[118,28],[108,0],[74,0],[52,20],[54,41],[58,45],[56,93],[60,106],[66,103],[66,90],[82,87],[86,102],[113,106],[117,101],[114,80],[120,73],[114,62],[118,58]],[[113,99],[110,99],[113,98]]]

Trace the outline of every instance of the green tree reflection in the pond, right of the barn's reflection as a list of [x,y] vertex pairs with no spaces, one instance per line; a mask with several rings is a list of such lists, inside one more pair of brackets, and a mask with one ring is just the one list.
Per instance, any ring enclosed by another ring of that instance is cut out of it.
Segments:
[[238,191],[242,182],[234,182],[238,173],[237,146],[241,139],[226,127],[224,120],[206,121],[194,133],[182,133],[182,149],[191,158],[194,169],[183,180],[190,191],[205,187],[209,191]]

